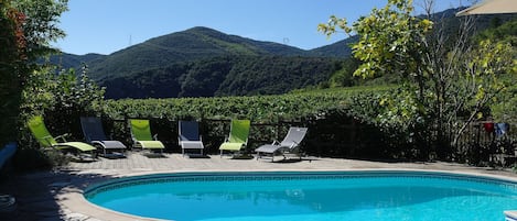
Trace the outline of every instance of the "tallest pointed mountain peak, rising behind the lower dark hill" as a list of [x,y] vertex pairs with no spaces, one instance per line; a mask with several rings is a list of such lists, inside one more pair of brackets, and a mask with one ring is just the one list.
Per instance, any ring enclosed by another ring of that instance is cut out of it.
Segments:
[[172,63],[217,56],[308,56],[310,52],[283,44],[228,35],[208,27],[193,27],[148,40],[94,60],[89,70],[97,80],[128,76]]

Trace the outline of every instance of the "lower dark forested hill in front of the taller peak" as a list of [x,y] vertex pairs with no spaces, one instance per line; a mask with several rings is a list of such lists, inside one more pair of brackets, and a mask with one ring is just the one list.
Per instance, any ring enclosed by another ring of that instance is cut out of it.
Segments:
[[338,59],[286,56],[213,57],[104,81],[106,98],[278,95],[326,81]]

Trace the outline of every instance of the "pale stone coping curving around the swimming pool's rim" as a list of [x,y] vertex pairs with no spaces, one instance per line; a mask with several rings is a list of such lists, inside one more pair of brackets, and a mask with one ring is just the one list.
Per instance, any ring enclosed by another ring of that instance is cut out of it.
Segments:
[[[483,174],[483,173],[473,173],[473,172],[462,172],[462,170],[440,170],[440,169],[414,169],[414,168],[364,168],[364,169],[311,169],[311,170],[303,170],[303,169],[283,169],[283,170],[171,170],[171,172],[146,172],[146,173],[131,173],[131,174],[123,174],[118,177],[114,178],[122,178],[122,179],[131,179],[133,177],[139,177],[139,176],[166,176],[166,175],[184,175],[184,174],[211,174],[211,173],[216,173],[216,174],[243,174],[243,173],[317,173],[317,172],[328,172],[328,173],[340,173],[340,172],[356,172],[356,173],[362,173],[362,172],[368,172],[368,173],[403,173],[403,172],[409,172],[409,173],[439,173],[439,174],[445,174],[445,175],[459,175],[459,176],[473,176],[473,177],[480,177],[480,178],[486,178],[486,179],[492,179],[492,180],[498,180],[498,181],[509,181],[509,183],[517,183],[517,177],[508,177],[508,176],[503,176],[503,175],[495,175],[495,174]],[[68,210],[72,211],[77,211],[80,212],[80,214],[87,216],[89,218],[93,218],[95,220],[119,220],[119,221],[137,221],[137,220],[142,220],[142,221],[163,221],[162,219],[155,219],[155,218],[144,218],[144,217],[138,217],[138,216],[132,216],[128,213],[122,213],[118,212],[115,210],[106,209],[100,206],[97,206],[95,203],[89,202],[85,198],[85,190],[88,190],[91,187],[95,187],[97,185],[103,185],[104,183],[109,183],[109,180],[105,181],[98,181],[98,183],[91,183],[86,186],[83,186],[83,188],[74,188],[68,191],[65,191],[66,194],[63,196],[60,196],[60,205],[64,206]],[[502,218],[505,218],[506,221],[517,221],[517,210],[511,210],[511,211],[503,211],[502,212]]]

